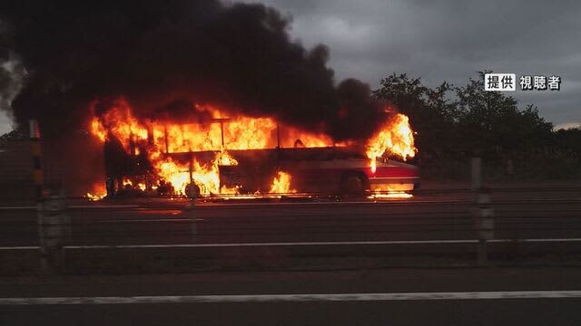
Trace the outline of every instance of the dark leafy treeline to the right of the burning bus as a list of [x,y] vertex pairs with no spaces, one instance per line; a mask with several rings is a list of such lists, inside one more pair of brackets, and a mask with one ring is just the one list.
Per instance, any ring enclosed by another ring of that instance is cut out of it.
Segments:
[[581,178],[581,129],[554,130],[534,105],[484,91],[483,72],[464,87],[436,88],[394,73],[374,93],[409,116],[424,178],[466,179],[474,156],[489,180]]

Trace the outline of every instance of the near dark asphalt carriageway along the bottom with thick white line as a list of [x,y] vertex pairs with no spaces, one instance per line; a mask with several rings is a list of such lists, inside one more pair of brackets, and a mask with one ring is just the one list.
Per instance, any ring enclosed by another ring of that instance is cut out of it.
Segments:
[[16,277],[0,323],[578,325],[579,290],[575,268]]

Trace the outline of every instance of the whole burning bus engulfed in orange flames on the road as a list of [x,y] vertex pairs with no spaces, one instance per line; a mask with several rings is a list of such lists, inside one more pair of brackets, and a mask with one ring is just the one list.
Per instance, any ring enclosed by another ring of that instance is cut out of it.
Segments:
[[419,183],[417,168],[404,162],[417,149],[409,120],[399,113],[386,116],[365,142],[335,142],[273,118],[212,106],[194,105],[181,120],[138,120],[119,100],[94,116],[91,132],[103,142],[108,196],[380,196]]

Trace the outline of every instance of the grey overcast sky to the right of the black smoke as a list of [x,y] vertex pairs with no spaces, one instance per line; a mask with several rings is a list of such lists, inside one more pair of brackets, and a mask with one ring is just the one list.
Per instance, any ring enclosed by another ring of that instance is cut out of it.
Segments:
[[[251,1],[247,1],[251,2]],[[561,91],[517,91],[556,125],[580,123],[581,2],[261,0],[292,16],[291,34],[330,47],[338,79],[377,87],[406,72],[428,86],[464,85],[477,71],[561,76]],[[10,129],[0,114],[0,133]]]

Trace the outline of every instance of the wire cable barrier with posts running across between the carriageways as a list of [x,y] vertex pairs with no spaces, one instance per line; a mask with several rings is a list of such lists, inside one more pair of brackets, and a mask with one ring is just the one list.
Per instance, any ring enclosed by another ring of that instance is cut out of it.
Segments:
[[543,195],[537,199],[508,190],[439,191],[439,197],[388,201],[281,197],[267,203],[207,198],[95,203],[52,197],[38,207],[0,208],[0,246],[38,250],[41,264],[53,273],[63,270],[67,251],[99,248],[300,246],[303,251],[318,247],[314,252],[324,255],[329,249],[320,248],[330,245],[355,254],[361,245],[413,246],[410,254],[446,245],[473,248],[468,254],[481,265],[488,264],[491,246],[552,242],[560,244],[555,248],[561,253],[576,250],[563,244],[581,241],[581,188],[567,188],[566,197],[547,198],[558,189],[535,192]]

